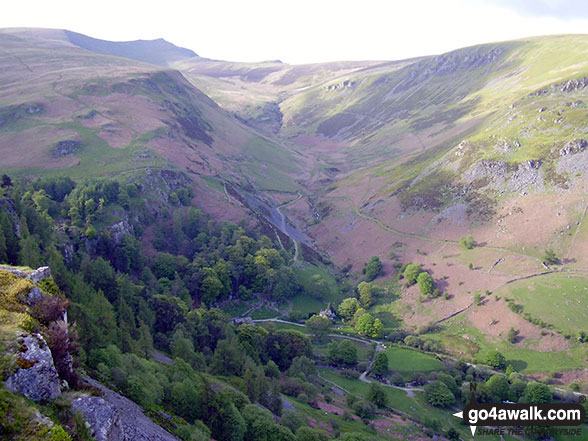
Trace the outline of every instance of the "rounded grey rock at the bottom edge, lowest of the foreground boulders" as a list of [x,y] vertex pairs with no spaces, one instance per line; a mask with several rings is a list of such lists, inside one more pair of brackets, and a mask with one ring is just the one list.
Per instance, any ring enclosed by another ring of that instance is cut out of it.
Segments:
[[123,441],[124,434],[118,410],[100,397],[81,397],[73,400],[72,410],[79,412],[90,426],[96,441]]

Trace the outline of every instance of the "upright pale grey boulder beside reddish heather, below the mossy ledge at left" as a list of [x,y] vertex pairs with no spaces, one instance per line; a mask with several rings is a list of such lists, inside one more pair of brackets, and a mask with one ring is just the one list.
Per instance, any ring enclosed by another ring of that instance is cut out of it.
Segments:
[[6,389],[33,401],[47,401],[61,395],[59,376],[51,350],[39,334],[19,339],[19,369],[6,380]]

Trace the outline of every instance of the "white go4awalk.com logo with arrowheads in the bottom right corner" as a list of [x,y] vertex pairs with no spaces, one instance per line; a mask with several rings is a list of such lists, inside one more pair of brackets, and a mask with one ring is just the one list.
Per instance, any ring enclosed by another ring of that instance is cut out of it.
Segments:
[[470,426],[472,435],[481,427],[481,435],[581,435],[586,409],[580,396],[578,403],[478,403],[470,389],[470,402],[453,415]]

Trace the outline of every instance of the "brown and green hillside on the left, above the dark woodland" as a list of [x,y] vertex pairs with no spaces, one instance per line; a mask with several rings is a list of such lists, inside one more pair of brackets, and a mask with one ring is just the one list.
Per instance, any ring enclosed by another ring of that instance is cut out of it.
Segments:
[[[87,177],[172,165],[233,180],[244,173],[262,190],[297,188],[290,150],[245,128],[173,71],[61,42],[10,34],[0,42],[5,170]],[[72,139],[81,146],[56,157],[57,143]]]

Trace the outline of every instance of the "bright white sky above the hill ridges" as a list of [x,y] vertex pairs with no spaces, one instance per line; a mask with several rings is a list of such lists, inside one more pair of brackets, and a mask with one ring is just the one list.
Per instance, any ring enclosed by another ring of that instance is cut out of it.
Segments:
[[164,38],[198,55],[291,64],[399,60],[480,43],[588,33],[586,0],[19,0],[0,28]]

